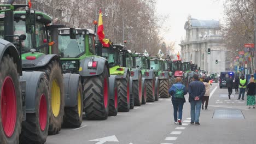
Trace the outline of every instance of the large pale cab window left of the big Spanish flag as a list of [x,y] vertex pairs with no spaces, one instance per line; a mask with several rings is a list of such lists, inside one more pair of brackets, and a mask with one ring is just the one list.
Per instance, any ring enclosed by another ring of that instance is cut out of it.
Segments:
[[69,35],[59,35],[59,55],[61,57],[78,57],[85,51],[84,35],[77,34],[77,39],[70,39]]

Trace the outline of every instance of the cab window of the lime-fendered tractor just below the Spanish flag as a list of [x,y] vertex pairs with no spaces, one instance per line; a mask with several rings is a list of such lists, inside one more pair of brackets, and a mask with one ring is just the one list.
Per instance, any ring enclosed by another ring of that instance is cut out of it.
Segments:
[[102,57],[108,59],[109,67],[120,64],[119,50],[110,47],[102,48]]

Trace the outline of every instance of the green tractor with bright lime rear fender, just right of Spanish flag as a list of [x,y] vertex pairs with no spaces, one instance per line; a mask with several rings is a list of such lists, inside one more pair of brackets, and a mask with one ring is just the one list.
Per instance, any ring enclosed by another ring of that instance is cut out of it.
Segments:
[[121,66],[121,49],[123,47],[123,45],[111,44],[109,47],[102,47],[100,43],[97,43],[98,55],[108,59],[109,62],[109,116],[116,116],[118,111],[130,111],[132,77],[130,69]]

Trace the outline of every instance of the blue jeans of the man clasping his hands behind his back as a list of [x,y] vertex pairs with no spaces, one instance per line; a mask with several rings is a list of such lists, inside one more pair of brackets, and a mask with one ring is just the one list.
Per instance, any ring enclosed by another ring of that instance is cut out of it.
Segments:
[[199,122],[202,100],[190,101],[191,122]]

